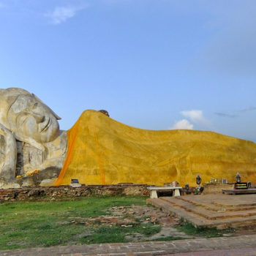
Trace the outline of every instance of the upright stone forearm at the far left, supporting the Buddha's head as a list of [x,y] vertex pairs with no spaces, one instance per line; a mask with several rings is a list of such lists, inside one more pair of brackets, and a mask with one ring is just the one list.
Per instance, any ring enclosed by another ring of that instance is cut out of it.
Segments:
[[1,145],[4,153],[4,163],[0,167],[0,177],[5,181],[15,178],[17,162],[17,144],[14,135],[10,130],[0,124],[0,135],[4,136],[5,144]]

